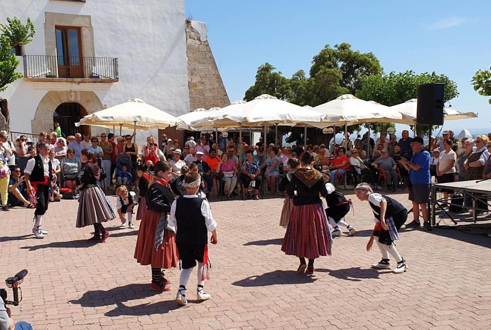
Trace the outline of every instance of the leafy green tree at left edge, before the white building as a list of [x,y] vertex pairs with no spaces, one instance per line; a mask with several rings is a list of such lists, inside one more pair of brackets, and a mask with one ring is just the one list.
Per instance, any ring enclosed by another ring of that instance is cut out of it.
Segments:
[[[12,50],[30,43],[35,33],[34,25],[29,18],[26,25],[17,17],[7,18],[7,23],[0,24],[0,92],[5,91],[8,84],[22,77],[22,74],[15,72],[19,61]],[[7,100],[0,98],[0,130],[9,130],[9,126]]]

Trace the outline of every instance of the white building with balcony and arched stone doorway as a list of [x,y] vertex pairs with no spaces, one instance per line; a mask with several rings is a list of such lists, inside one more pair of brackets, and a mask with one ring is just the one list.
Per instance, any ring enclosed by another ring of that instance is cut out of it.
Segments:
[[58,121],[69,135],[84,115],[134,97],[189,112],[184,0],[2,0],[0,22],[14,16],[36,34],[17,50],[25,77],[1,94],[12,131]]

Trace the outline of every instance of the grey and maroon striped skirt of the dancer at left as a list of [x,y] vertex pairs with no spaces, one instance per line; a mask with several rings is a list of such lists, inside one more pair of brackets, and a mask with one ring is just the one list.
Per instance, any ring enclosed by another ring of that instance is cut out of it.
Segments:
[[107,222],[116,218],[116,211],[101,188],[88,187],[80,191],[77,228]]

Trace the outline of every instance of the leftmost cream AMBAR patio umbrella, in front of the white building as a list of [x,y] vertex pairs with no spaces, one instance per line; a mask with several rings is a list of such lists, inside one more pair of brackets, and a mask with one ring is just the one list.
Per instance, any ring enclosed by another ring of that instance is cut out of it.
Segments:
[[140,128],[161,128],[176,126],[181,121],[141,99],[130,99],[127,102],[111,106],[84,116],[75,126],[119,126]]

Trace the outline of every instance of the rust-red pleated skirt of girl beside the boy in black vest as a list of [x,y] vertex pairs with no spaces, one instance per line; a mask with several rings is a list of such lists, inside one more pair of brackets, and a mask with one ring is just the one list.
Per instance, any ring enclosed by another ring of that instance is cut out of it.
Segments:
[[179,265],[179,253],[176,246],[176,234],[165,229],[164,241],[158,250],[155,250],[155,231],[159,225],[160,213],[147,210],[138,229],[136,238],[135,259],[143,266],[151,265],[155,268],[169,269]]

